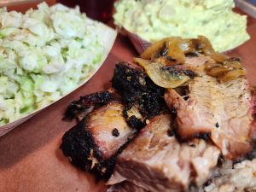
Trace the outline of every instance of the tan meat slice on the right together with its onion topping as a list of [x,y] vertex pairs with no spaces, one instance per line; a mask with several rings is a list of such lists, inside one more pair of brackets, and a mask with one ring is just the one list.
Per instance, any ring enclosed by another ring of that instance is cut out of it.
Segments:
[[215,52],[204,37],[165,38],[140,57],[134,61],[167,89],[179,138],[211,137],[231,160],[251,152],[256,100],[240,59]]

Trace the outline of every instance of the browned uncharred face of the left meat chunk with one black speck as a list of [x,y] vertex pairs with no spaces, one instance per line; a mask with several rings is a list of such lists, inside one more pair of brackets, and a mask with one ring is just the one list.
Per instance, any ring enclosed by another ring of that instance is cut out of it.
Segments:
[[112,102],[87,117],[87,129],[105,159],[116,153],[135,132],[126,124],[122,113],[123,105]]

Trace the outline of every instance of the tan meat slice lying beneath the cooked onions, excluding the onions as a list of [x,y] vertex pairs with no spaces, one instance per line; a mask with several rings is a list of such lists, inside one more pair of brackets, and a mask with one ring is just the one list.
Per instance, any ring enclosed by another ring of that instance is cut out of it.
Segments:
[[[202,62],[200,58],[195,57],[192,62],[190,59],[191,63],[186,65],[195,67],[196,60]],[[172,89],[165,95],[167,106],[177,111],[178,136],[188,139],[208,133],[230,159],[249,153],[255,132],[253,106],[256,100],[247,79],[220,83],[201,72],[189,81],[187,88],[184,96]]]

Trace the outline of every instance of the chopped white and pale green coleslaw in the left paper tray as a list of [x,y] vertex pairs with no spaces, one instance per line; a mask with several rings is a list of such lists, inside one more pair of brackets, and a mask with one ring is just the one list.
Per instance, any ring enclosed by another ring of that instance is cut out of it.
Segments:
[[0,9],[0,125],[74,90],[103,60],[96,21],[46,3],[22,15]]

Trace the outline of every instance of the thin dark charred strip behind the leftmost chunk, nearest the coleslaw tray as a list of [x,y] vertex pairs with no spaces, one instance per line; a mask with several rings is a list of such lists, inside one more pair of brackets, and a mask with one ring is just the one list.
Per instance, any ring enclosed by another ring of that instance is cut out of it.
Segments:
[[86,96],[80,96],[79,100],[73,101],[69,104],[67,111],[64,114],[64,119],[71,120],[79,118],[79,116],[89,108],[91,108],[90,110],[92,110],[92,108],[99,108],[113,100],[113,93],[108,91],[101,91]]

